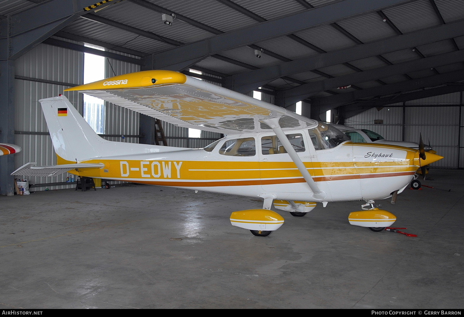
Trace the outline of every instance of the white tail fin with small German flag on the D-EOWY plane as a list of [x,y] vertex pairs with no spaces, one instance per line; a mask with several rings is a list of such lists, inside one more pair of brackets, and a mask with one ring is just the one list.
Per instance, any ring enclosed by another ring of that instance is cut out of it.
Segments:
[[89,126],[69,100],[61,95],[41,99],[48,130],[58,157],[68,162],[115,155],[179,151],[184,148],[108,141]]

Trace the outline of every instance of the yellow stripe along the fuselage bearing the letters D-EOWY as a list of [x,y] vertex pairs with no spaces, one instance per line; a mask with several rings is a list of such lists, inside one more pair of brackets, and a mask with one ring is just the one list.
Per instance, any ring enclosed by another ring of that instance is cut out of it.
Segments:
[[[64,161],[64,160],[63,160]],[[166,186],[234,186],[303,183],[293,162],[90,160],[101,169],[71,173],[96,178],[127,180]],[[60,164],[63,164],[60,162]],[[306,162],[316,182],[413,175],[418,166],[401,162]]]

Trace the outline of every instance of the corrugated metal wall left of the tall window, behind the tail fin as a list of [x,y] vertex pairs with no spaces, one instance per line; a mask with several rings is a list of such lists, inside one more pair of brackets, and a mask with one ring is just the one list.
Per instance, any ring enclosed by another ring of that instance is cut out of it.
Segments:
[[[79,84],[83,82],[83,58],[84,54],[81,52],[39,44],[16,60],[15,75]],[[15,143],[22,148],[22,151],[14,157],[16,168],[28,162],[37,162],[37,165],[56,164],[56,155],[39,99],[63,94],[66,88],[69,86],[24,79],[15,80],[15,131],[17,131]],[[82,113],[82,96],[79,96],[77,92],[64,93],[64,95]],[[18,175],[17,178],[26,177]],[[66,175],[30,177],[28,180],[30,184],[65,182]],[[70,186],[49,186],[48,188],[67,187]],[[45,187],[33,190],[45,190]]]

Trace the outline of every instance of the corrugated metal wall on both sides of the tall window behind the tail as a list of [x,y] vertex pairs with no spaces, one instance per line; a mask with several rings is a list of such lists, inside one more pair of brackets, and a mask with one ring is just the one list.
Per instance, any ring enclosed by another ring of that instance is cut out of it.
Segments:
[[[77,42],[73,42],[77,43]],[[81,44],[81,43],[79,43]],[[115,76],[140,70],[140,66],[106,58],[106,76]],[[111,64],[111,67],[110,67]],[[16,61],[16,76],[38,80],[83,83],[84,53],[52,45],[39,44]],[[15,143],[22,151],[15,155],[15,167],[28,162],[38,165],[55,165],[56,155],[48,134],[39,99],[64,94],[82,114],[82,94],[63,93],[67,85],[16,79],[15,81]],[[139,135],[139,114],[126,108],[106,104],[105,134]],[[138,143],[137,137],[105,137],[110,141]],[[66,181],[66,174],[55,177],[29,177],[30,184],[48,184]],[[17,178],[26,178],[18,175]],[[31,190],[49,188],[63,189],[75,185],[35,187]]]

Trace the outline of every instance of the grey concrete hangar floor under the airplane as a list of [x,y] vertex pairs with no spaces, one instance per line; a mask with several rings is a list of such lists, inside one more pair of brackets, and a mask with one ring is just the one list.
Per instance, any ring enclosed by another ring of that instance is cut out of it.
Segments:
[[405,190],[394,227],[329,203],[268,237],[232,227],[258,199],[136,185],[0,197],[0,309],[464,308],[464,171]]

